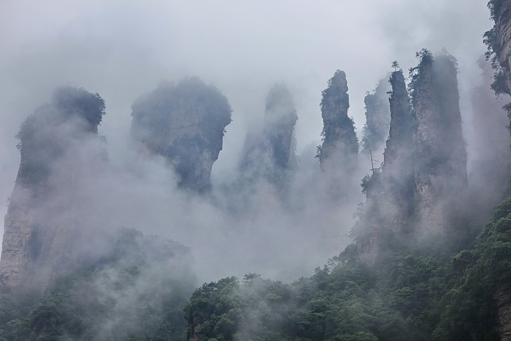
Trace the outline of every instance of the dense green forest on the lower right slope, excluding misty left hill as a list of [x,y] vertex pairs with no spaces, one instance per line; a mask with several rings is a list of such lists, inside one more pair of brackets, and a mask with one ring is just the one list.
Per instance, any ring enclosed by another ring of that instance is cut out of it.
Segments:
[[[390,239],[390,238],[389,238]],[[511,198],[475,246],[394,241],[373,265],[357,246],[291,284],[248,274],[205,283],[185,309],[197,340],[492,340],[511,282]]]

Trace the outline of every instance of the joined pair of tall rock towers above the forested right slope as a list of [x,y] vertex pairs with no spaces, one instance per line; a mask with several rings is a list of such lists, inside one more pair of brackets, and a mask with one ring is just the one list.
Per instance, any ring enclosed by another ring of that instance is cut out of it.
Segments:
[[449,232],[453,202],[467,187],[456,61],[447,53],[417,54],[408,96],[402,71],[392,86],[389,138],[380,172],[362,180],[366,211],[359,257],[374,262],[380,246],[425,241]]

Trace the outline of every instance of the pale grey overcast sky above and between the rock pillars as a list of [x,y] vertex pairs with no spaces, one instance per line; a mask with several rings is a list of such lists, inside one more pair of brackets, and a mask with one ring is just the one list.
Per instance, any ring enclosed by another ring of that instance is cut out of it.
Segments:
[[19,124],[56,86],[83,86],[105,99],[100,133],[115,163],[136,97],[164,79],[196,75],[215,84],[234,110],[215,177],[234,167],[275,82],[294,95],[300,154],[319,143],[321,90],[335,70],[346,72],[349,115],[360,133],[365,93],[394,59],[406,75],[422,48],[445,47],[458,58],[462,115],[470,121],[466,94],[478,81],[482,34],[491,25],[484,0],[2,0],[0,200],[14,186]]

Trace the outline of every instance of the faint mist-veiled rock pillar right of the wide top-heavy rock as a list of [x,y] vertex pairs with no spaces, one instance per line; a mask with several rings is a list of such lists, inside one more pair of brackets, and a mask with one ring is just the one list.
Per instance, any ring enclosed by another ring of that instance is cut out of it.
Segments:
[[273,85],[266,97],[261,132],[251,132],[245,140],[240,171],[251,181],[266,179],[277,188],[285,186],[296,168],[294,126],[298,116],[293,97],[283,84]]

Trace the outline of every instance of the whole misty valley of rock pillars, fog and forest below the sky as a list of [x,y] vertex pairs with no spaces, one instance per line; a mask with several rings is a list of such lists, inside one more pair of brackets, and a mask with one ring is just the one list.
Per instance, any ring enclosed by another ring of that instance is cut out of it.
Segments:
[[273,82],[221,171],[220,85],[123,97],[123,149],[106,96],[57,86],[12,146],[0,341],[511,340],[511,0],[487,7],[468,101],[460,56],[423,48],[370,76],[357,129],[332,70],[301,151],[303,94]]

